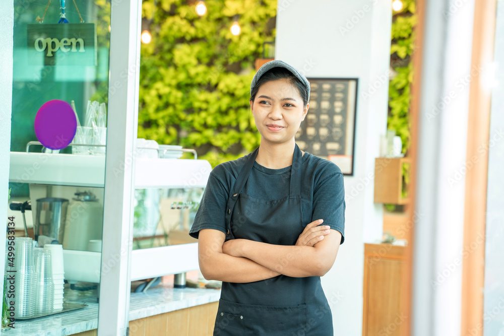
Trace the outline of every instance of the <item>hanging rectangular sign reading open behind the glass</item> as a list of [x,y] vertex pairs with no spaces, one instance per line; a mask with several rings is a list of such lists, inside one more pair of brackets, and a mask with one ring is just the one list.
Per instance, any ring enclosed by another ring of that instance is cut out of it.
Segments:
[[[28,62],[40,65],[96,65],[96,25],[27,25]],[[42,56],[42,57],[41,57]]]

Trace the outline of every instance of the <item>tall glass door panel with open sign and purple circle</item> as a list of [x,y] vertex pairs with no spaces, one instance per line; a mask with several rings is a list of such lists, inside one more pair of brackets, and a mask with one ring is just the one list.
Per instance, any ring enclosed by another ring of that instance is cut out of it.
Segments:
[[6,335],[98,327],[110,15],[107,0],[14,0]]

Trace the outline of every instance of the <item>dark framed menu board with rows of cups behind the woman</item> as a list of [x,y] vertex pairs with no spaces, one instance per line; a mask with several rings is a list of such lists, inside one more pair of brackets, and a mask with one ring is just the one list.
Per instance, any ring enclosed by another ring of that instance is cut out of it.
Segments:
[[309,109],[296,133],[303,151],[334,162],[353,175],[357,79],[308,79]]

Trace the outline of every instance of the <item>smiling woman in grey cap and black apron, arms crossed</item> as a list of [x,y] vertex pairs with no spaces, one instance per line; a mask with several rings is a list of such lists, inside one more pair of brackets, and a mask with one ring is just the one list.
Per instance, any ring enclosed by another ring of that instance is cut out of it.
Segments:
[[309,93],[287,63],[263,65],[250,86],[261,145],[210,174],[190,234],[205,279],[223,282],[215,335],[333,334],[320,277],[344,240],[343,175],[295,143]]

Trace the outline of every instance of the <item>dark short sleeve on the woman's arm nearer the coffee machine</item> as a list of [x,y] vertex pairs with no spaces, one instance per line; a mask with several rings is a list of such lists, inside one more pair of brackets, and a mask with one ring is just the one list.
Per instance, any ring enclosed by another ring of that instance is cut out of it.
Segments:
[[189,232],[193,238],[198,238],[200,230],[203,229],[215,229],[226,233],[225,216],[229,191],[220,181],[219,171],[222,172],[216,167],[208,178],[200,207]]

